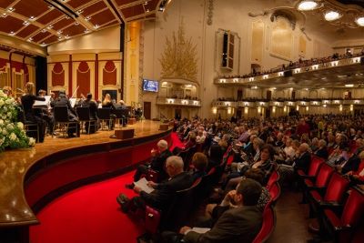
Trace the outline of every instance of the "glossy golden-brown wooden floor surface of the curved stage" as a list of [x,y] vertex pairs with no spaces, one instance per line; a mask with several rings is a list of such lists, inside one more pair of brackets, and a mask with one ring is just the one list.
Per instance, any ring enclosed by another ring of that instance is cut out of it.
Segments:
[[[126,128],[134,128],[135,136],[149,137],[163,134],[159,130],[161,123],[144,120]],[[121,129],[121,128],[116,128]],[[24,179],[26,171],[37,161],[42,160],[60,151],[77,147],[87,147],[103,144],[118,143],[121,140],[110,138],[115,131],[99,130],[96,134],[81,134],[80,137],[45,137],[44,143],[35,144],[35,147],[25,149],[5,150],[0,153],[0,226],[27,225],[36,222],[36,218],[29,210],[24,196]]]

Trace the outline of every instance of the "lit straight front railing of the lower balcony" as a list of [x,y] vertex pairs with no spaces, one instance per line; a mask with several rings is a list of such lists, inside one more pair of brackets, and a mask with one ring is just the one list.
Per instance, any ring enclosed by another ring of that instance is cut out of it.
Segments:
[[364,106],[364,99],[320,99],[317,101],[292,100],[292,101],[213,101],[214,107],[268,107],[268,106],[339,106],[356,105]]

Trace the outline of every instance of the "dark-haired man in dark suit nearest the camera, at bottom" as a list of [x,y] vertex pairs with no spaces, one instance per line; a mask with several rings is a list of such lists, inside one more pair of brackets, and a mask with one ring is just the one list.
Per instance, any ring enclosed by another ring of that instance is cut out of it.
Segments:
[[223,213],[214,227],[204,234],[191,231],[189,227],[181,228],[180,233],[185,235],[183,240],[189,243],[253,241],[262,224],[262,213],[257,208],[261,190],[262,187],[257,181],[243,179],[230,196],[237,207]]

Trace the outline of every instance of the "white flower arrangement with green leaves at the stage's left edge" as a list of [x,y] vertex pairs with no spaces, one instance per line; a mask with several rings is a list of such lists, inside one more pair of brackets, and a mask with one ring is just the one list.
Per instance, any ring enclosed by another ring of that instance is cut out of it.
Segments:
[[0,90],[0,152],[5,148],[32,147],[33,137],[27,137],[24,124],[16,122],[18,109],[14,98]]

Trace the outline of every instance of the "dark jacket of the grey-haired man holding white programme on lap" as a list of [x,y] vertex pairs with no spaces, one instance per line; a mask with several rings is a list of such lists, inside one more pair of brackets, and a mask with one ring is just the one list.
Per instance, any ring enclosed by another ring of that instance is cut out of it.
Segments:
[[150,194],[141,191],[140,197],[147,205],[163,210],[169,208],[178,190],[187,189],[191,187],[192,183],[192,177],[187,172],[182,172],[166,182],[159,183],[157,188]]

